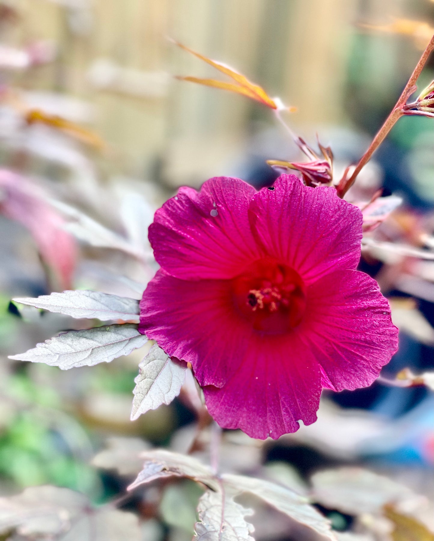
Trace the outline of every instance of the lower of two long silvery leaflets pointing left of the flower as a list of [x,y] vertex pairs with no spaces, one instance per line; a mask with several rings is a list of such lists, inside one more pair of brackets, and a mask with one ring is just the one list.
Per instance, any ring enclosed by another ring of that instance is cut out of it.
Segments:
[[128,355],[146,342],[146,336],[140,334],[134,324],[110,325],[60,334],[25,353],[10,355],[9,359],[44,362],[69,370],[110,362],[121,355]]

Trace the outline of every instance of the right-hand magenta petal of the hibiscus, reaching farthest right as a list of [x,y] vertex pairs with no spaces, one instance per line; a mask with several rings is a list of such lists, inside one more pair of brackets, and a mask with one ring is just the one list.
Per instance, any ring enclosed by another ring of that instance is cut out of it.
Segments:
[[366,387],[398,349],[398,329],[375,280],[337,271],[308,288],[305,324],[299,329],[336,391]]

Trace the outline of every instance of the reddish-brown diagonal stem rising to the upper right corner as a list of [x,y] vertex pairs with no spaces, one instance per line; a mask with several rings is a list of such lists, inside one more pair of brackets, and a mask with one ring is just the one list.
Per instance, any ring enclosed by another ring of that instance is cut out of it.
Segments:
[[412,94],[412,92],[415,90],[414,88],[415,83],[418,80],[420,72],[422,71],[433,49],[434,49],[434,36],[432,36],[429,44],[426,46],[426,49],[424,50],[422,56],[420,57],[420,60],[417,63],[415,70],[413,71],[409,81],[405,85],[405,88],[402,91],[402,94],[399,96],[399,99],[396,102],[396,105],[393,107],[390,115],[386,118],[386,121],[384,122],[383,126],[379,129],[377,135],[373,138],[372,143],[370,144],[369,148],[366,150],[365,154],[360,158],[359,163],[357,164],[356,168],[352,172],[351,176],[348,177],[347,179],[346,174],[344,174],[344,176],[341,178],[337,187],[337,192],[338,192],[339,197],[343,197],[346,194],[346,192],[351,188],[351,186],[354,184],[354,181],[357,178],[357,175],[360,173],[360,170],[366,165],[367,162],[369,162],[372,154],[374,153],[374,151],[377,150],[380,144],[382,144],[386,135],[392,129],[394,123],[398,120],[400,116],[404,114],[403,106],[405,105],[409,95]]

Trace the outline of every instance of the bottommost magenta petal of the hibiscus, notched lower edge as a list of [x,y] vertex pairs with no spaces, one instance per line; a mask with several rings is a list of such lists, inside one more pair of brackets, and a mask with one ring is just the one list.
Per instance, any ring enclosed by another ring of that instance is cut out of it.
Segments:
[[252,438],[295,432],[297,421],[317,420],[320,371],[297,334],[254,339],[244,360],[222,388],[205,387],[209,413],[223,428],[241,428]]

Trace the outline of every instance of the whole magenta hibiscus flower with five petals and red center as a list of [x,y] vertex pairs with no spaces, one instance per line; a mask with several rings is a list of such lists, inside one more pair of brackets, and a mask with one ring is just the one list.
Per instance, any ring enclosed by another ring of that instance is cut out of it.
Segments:
[[370,385],[397,349],[377,282],[356,271],[360,210],[282,175],[181,188],[155,213],[161,269],[140,331],[190,362],[209,413],[254,438],[313,423],[321,388]]

